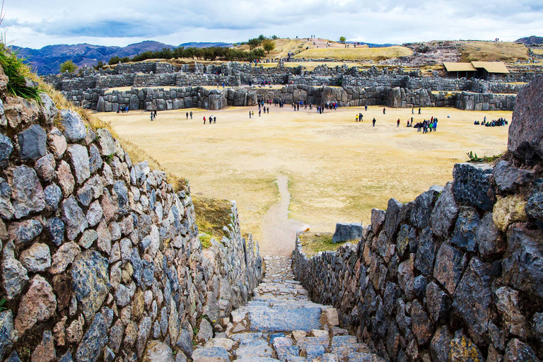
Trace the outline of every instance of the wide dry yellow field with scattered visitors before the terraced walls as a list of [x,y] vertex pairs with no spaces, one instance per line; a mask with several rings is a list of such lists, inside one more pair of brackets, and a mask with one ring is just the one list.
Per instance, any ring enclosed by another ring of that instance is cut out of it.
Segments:
[[[390,197],[409,202],[431,185],[445,185],[452,165],[465,161],[466,152],[492,156],[505,151],[507,127],[474,126],[473,121],[511,117],[511,112],[423,108],[415,121],[436,116],[439,123],[438,132],[421,134],[405,127],[411,109],[388,109],[383,115],[383,107],[367,112],[354,107],[317,115],[272,106],[269,115],[255,119],[249,119],[249,110],[258,113],[257,107],[192,109],[194,119],[186,120],[190,110],[165,111],[153,123],[141,111],[99,117],[170,172],[187,177],[196,197],[236,200],[242,231],[260,240],[262,255],[273,254],[277,243],[273,233],[264,233],[263,221],[274,219],[270,210],[282,212],[271,207],[281,195],[290,192],[289,216],[301,228],[333,232],[338,221],[367,224],[371,209],[385,209]],[[354,122],[358,112],[364,122]],[[204,126],[202,117],[211,114],[217,123]],[[288,185],[286,193],[276,180]],[[293,238],[287,241],[294,246]]]

